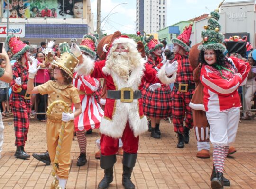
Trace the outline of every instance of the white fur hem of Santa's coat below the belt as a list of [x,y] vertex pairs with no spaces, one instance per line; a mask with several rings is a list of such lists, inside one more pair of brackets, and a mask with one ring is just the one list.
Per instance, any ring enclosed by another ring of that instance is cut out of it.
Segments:
[[113,138],[120,138],[123,136],[127,121],[129,121],[135,137],[146,132],[148,130],[148,122],[146,116],[140,119],[137,103],[137,100],[132,103],[123,103],[120,100],[116,100],[116,113],[112,116],[111,121],[105,117],[101,118],[99,132]]

